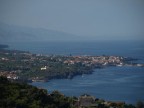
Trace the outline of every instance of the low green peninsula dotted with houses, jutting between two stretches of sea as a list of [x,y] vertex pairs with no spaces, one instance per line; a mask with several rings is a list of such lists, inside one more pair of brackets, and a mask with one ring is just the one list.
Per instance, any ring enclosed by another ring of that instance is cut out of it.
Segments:
[[123,66],[129,61],[131,59],[121,56],[41,55],[0,49],[0,76],[31,81],[71,79],[76,75],[91,74],[95,68]]

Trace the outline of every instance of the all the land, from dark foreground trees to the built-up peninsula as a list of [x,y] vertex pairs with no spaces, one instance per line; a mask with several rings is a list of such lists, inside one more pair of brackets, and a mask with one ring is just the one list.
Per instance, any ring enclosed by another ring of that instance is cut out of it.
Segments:
[[[135,108],[124,102],[95,99],[90,95],[67,97],[58,91],[26,84],[53,78],[73,78],[91,74],[95,68],[129,65],[131,58],[121,56],[59,56],[32,54],[0,48],[0,108]],[[137,64],[134,64],[134,66]],[[143,64],[139,64],[144,66]],[[143,102],[137,103],[143,108]]]

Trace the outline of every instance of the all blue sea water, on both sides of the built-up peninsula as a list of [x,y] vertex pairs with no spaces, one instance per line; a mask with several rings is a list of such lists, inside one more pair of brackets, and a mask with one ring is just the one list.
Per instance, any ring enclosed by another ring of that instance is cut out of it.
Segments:
[[[77,42],[7,42],[10,49],[43,55],[116,55],[144,63],[143,41],[77,41]],[[144,67],[122,66],[95,69],[90,75],[73,79],[33,82],[51,93],[58,90],[66,96],[93,95],[107,101],[136,104],[144,101]]]

